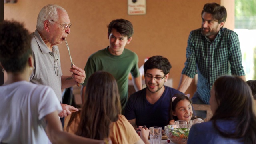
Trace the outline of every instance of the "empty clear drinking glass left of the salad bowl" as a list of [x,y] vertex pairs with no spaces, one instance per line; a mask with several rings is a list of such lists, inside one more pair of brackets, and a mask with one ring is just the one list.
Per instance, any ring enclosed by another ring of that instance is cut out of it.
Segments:
[[162,127],[153,126],[149,128],[150,144],[161,144]]

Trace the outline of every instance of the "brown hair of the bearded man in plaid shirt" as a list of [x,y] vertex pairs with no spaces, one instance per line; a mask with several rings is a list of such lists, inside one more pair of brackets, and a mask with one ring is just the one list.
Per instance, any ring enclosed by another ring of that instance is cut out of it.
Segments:
[[225,22],[227,18],[227,10],[224,6],[220,6],[217,3],[207,3],[201,12],[201,16],[204,12],[212,14],[212,18],[217,20],[218,23]]

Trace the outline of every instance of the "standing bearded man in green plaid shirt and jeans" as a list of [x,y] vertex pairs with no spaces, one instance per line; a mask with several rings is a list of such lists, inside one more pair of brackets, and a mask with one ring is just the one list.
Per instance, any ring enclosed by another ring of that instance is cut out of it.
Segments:
[[[185,93],[195,74],[198,74],[194,104],[209,104],[214,81],[222,75],[237,75],[245,80],[242,54],[237,34],[223,28],[227,18],[226,8],[216,3],[204,5],[202,26],[190,32],[186,49],[186,62],[178,90]],[[206,117],[206,112],[196,112]]]

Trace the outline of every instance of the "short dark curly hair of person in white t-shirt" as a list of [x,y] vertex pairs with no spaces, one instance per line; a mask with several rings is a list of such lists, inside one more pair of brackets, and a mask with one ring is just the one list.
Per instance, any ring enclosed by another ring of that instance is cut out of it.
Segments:
[[4,20],[0,23],[0,62],[6,72],[22,72],[32,55],[31,36],[23,24]]

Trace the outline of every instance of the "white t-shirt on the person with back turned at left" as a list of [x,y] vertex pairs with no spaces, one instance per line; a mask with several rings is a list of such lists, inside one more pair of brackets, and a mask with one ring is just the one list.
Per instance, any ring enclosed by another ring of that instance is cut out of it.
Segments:
[[19,81],[0,86],[0,143],[46,144],[42,118],[60,102],[49,86]]

